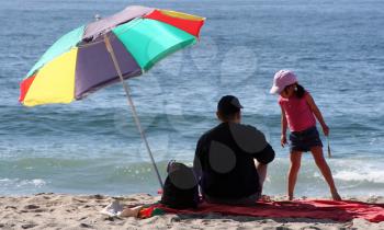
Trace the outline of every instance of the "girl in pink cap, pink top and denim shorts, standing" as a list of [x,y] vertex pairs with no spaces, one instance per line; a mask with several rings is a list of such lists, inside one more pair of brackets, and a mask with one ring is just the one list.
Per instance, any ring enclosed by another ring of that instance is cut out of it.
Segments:
[[324,135],[328,136],[329,128],[324,122],[321,112],[315,104],[310,94],[297,83],[296,76],[290,70],[280,70],[274,74],[272,94],[280,94],[281,107],[281,145],[286,143],[286,128],[291,129],[287,196],[293,199],[293,191],[296,184],[297,173],[302,161],[302,153],[310,151],[316,165],[327,181],[334,200],[341,200],[335,186],[330,169],[323,154],[323,142],[316,128],[316,119],[320,123]]

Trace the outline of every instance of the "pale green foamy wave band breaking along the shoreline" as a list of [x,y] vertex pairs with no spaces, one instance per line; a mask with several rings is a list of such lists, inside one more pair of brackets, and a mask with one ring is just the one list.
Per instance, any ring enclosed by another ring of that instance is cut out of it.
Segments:
[[[365,159],[366,160],[366,159]],[[366,170],[359,169],[359,160],[346,163],[346,159],[329,161],[336,184],[343,194],[359,194],[374,189],[384,191],[384,171],[374,166],[374,159],[366,160]],[[192,165],[191,160],[183,161]],[[162,180],[166,179],[168,160],[157,162]],[[349,165],[348,168],[346,165]],[[289,159],[276,158],[269,165],[266,193],[284,194]],[[1,163],[0,194],[69,192],[69,193],[136,193],[156,192],[158,181],[149,162],[126,162],[118,158],[59,159],[34,158]],[[25,175],[32,179],[25,179]],[[14,177],[13,177],[14,176]],[[328,194],[327,184],[313,159],[304,158],[298,174],[296,192],[303,195]]]

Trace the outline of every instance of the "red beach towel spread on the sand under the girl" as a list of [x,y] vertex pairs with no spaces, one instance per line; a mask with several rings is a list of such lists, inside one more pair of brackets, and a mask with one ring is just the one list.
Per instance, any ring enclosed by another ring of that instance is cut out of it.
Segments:
[[334,200],[258,202],[252,207],[228,206],[203,203],[197,209],[177,210],[156,205],[170,214],[222,214],[269,218],[310,218],[349,221],[362,218],[371,222],[384,221],[384,204]]

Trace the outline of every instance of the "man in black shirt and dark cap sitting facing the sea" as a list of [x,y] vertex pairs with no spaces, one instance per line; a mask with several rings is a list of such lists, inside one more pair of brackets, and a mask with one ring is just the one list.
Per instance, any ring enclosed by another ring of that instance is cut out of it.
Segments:
[[274,151],[257,128],[242,125],[239,100],[223,96],[217,104],[218,126],[197,142],[194,170],[208,203],[251,205],[261,197],[267,164]]

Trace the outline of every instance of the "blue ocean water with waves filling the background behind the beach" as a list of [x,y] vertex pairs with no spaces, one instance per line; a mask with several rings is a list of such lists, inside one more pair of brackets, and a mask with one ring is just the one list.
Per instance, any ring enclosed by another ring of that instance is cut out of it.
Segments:
[[[217,124],[225,94],[244,123],[276,151],[264,192],[284,194],[287,149],[280,108],[268,93],[282,68],[296,71],[331,130],[328,162],[341,195],[384,195],[384,2],[161,0],[0,3],[0,194],[156,194],[158,182],[121,84],[68,105],[23,107],[19,83],[60,35],[128,4],[207,18],[201,42],[128,81],[158,166],[190,163],[200,135]],[[323,139],[325,141],[325,139]],[[297,196],[326,196],[309,153]]]

